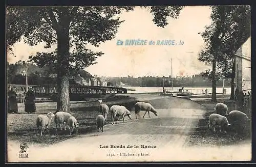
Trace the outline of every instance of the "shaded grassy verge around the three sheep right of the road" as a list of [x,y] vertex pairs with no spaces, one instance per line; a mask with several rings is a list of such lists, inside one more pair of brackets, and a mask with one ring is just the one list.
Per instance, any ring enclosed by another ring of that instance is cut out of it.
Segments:
[[[227,99],[224,97],[217,99],[218,102],[224,102],[225,100]],[[199,120],[198,128],[189,134],[187,146],[224,146],[251,143],[250,123],[244,125],[241,130],[234,130],[230,127],[226,134],[214,134],[208,129],[208,117],[216,113],[214,107],[217,102],[211,102],[210,99],[196,100],[195,102],[203,105],[207,112],[204,114],[204,118]]]

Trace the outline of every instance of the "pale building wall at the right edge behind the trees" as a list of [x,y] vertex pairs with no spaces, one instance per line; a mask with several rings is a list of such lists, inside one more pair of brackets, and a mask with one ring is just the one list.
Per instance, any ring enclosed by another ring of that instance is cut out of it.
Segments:
[[240,107],[243,97],[251,95],[251,37],[236,52],[235,84],[236,104]]

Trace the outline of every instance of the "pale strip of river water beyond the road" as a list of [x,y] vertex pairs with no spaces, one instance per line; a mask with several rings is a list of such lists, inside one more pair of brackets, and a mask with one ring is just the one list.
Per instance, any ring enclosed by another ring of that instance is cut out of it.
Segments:
[[[162,93],[163,92],[163,88],[161,87],[123,87],[126,89],[134,89],[135,91],[130,91],[127,90],[127,93],[155,93],[155,92],[159,92]],[[164,89],[166,89],[166,91],[172,91],[172,88],[170,87],[165,87]],[[179,91],[179,89],[181,89],[181,87],[173,87],[173,91]],[[208,93],[212,92],[212,88],[191,88],[191,87],[184,87],[184,92],[191,92],[194,94],[202,94],[205,93],[205,90],[207,89]],[[216,89],[217,93],[222,93],[222,87],[219,87]],[[231,88],[224,88],[224,90],[226,90],[226,94],[230,94],[231,93]]]

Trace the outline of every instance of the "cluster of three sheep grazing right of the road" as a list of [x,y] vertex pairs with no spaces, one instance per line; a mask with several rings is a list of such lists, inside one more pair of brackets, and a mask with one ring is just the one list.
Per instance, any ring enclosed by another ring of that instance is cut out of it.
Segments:
[[209,116],[208,128],[216,133],[216,127],[220,127],[219,132],[227,133],[229,126],[239,130],[250,119],[248,116],[239,110],[232,110],[228,113],[228,107],[224,103],[217,103],[215,108],[216,113]]

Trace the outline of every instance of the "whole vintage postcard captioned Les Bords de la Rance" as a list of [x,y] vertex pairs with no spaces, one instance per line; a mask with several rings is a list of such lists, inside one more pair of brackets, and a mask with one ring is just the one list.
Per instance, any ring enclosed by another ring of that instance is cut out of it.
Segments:
[[251,160],[250,6],[7,7],[11,162]]

